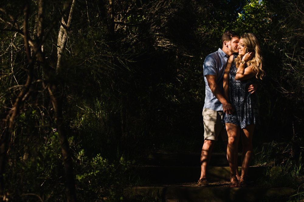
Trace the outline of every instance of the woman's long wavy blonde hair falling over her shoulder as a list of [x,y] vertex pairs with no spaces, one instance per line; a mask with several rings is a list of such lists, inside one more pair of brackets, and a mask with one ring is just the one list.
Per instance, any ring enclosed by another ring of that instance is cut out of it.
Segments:
[[[254,57],[247,62],[247,64],[249,63],[248,66],[252,65],[254,72],[257,73],[255,77],[262,79],[262,77],[265,75],[265,72],[262,70],[263,58],[261,55],[261,48],[257,37],[252,33],[246,33],[242,35],[241,38],[243,39],[243,43],[245,46],[245,53],[252,52],[254,54]],[[237,58],[235,58],[235,62],[240,65],[242,58],[243,56],[238,55]]]

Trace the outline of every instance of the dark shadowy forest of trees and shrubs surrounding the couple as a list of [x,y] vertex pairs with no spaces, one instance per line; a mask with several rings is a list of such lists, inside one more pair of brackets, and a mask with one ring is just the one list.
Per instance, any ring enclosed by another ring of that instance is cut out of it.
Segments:
[[0,22],[6,197],[123,200],[148,152],[199,153],[202,64],[227,29],[263,51],[254,146],[284,142],[302,162],[301,1],[2,0]]

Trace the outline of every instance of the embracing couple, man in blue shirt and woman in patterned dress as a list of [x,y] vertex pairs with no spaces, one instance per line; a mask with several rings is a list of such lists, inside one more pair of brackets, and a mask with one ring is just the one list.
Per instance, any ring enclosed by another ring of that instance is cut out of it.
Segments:
[[[247,33],[239,38],[225,31],[223,48],[208,55],[203,65],[206,97],[203,108],[204,144],[198,186],[207,186],[206,169],[219,134],[227,145],[230,187],[246,187],[245,176],[252,158],[252,136],[259,124],[257,79],[264,76],[259,42]],[[242,170],[237,167],[238,142],[243,144]]]

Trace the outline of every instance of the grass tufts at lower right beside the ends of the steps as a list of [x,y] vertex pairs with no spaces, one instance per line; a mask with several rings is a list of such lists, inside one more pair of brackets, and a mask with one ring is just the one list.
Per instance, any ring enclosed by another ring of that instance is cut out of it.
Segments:
[[[264,177],[257,180],[263,187],[292,187],[295,194],[284,201],[304,201],[302,152],[292,154],[293,144],[271,142],[255,149],[254,165],[268,167]],[[266,200],[267,201],[267,200]],[[271,201],[271,200],[269,200]],[[281,201],[281,200],[279,200]]]

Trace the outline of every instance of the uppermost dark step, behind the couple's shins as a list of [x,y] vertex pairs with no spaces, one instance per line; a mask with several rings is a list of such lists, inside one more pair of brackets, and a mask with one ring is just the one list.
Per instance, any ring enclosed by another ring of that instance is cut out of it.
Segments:
[[[154,152],[142,162],[154,166],[200,166],[200,153],[170,153]],[[225,153],[212,153],[210,166],[228,166]],[[238,165],[241,166],[241,156],[238,154]]]

